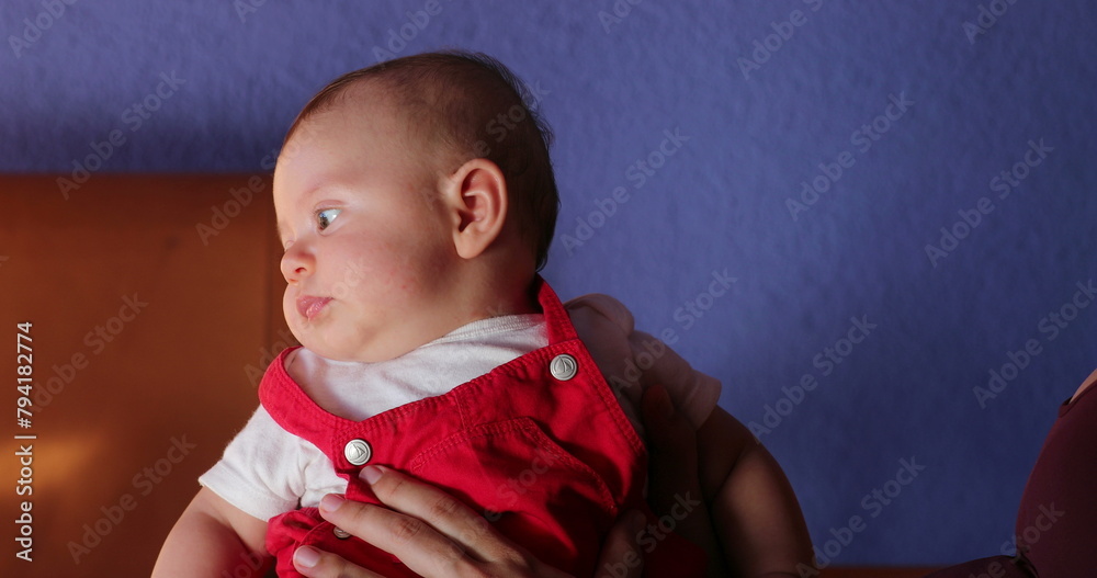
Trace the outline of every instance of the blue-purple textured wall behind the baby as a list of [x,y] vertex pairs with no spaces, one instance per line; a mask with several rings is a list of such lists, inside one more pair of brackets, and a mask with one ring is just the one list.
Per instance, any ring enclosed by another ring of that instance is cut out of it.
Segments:
[[[491,54],[556,132],[557,291],[617,296],[719,377],[827,559],[943,564],[1008,544],[1056,405],[1097,364],[1097,307],[1071,305],[1097,277],[1095,15],[1079,0],[10,0],[0,171],[269,172],[335,76]],[[908,485],[904,461],[924,466]],[[852,515],[863,531],[827,545]]]

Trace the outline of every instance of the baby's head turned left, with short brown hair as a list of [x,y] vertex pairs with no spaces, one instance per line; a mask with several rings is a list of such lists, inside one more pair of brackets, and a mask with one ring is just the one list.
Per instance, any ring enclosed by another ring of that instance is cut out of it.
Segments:
[[444,53],[349,72],[305,105],[274,170],[302,344],[382,361],[533,310],[559,201],[524,94],[502,65]]

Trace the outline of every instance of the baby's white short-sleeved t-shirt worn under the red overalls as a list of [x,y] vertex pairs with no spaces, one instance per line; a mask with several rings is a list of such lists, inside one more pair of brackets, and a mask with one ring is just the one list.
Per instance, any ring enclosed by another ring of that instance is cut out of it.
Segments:
[[[564,307],[642,435],[640,398],[649,385],[666,387],[694,427],[708,419],[720,398],[720,382],[694,371],[654,337],[636,331],[624,305],[606,295],[586,295]],[[445,394],[547,344],[541,314],[510,315],[473,321],[384,362],[331,361],[301,348],[285,359],[285,365],[317,405],[361,421]],[[283,430],[261,406],[199,483],[261,520],[315,507],[326,494],[347,491],[347,480],[336,475],[324,452]]]

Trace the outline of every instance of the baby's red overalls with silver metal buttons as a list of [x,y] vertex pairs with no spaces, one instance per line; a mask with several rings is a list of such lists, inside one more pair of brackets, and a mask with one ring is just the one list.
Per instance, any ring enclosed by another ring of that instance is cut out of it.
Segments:
[[[556,294],[540,277],[535,290],[548,345],[444,395],[346,420],[320,409],[290,378],[286,350],[267,370],[260,400],[286,431],[331,458],[349,483],[348,499],[378,503],[358,478],[362,466],[400,469],[483,512],[542,562],[591,576],[619,511],[638,508],[655,522],[643,496],[647,452]],[[648,575],[672,568],[685,578],[703,570],[703,552],[693,544],[661,531],[644,537]],[[339,537],[316,508],[270,520],[267,548],[279,576],[301,576],[292,558],[304,544],[384,576],[417,576],[357,537]]]

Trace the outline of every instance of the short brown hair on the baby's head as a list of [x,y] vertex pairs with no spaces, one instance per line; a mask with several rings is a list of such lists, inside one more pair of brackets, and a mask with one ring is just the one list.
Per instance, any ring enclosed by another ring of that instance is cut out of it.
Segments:
[[556,228],[559,193],[548,157],[552,129],[531,102],[528,87],[484,54],[450,50],[406,56],[331,81],[301,111],[285,143],[309,116],[349,98],[348,89],[367,80],[378,81],[409,118],[414,139],[427,143],[431,154],[444,154],[439,159],[442,170],[452,172],[473,158],[486,158],[499,167],[507,180],[509,216],[517,219],[540,271]]

